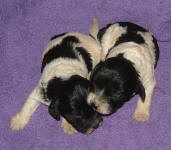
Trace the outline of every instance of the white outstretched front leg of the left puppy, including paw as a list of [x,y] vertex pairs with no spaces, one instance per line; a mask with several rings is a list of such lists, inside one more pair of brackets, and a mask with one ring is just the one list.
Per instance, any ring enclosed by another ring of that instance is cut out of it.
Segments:
[[30,117],[40,105],[40,88],[37,86],[29,95],[21,110],[11,118],[12,130],[22,130],[29,122]]

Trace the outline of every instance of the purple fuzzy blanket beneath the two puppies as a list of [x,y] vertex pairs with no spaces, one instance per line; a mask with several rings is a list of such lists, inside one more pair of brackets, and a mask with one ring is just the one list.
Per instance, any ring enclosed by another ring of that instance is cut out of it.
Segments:
[[[88,33],[132,21],[151,30],[161,55],[150,120],[136,122],[137,97],[105,117],[93,134],[65,135],[41,105],[19,132],[9,128],[40,77],[48,40],[67,31]],[[0,0],[0,149],[1,150],[171,150],[171,1],[170,0]]]

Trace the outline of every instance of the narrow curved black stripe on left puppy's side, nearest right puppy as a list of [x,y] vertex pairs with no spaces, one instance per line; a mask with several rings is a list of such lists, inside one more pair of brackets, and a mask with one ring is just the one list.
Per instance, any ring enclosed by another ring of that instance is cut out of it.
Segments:
[[87,66],[88,72],[90,72],[93,68],[92,59],[91,59],[90,54],[83,47],[77,47],[76,50],[83,57],[85,64]]

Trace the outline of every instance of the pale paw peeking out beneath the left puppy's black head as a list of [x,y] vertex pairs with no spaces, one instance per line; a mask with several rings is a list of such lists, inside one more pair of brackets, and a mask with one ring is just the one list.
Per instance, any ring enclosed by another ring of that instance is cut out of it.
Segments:
[[77,133],[77,130],[65,118],[62,118],[61,128],[63,129],[64,133],[68,135]]

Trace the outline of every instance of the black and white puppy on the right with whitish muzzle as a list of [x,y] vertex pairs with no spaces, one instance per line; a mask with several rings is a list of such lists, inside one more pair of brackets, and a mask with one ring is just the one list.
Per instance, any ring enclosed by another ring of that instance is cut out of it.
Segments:
[[159,59],[156,38],[147,29],[130,22],[109,24],[98,31],[94,19],[90,34],[101,43],[106,59],[91,74],[93,90],[88,103],[101,114],[111,114],[138,94],[133,118],[146,121]]

